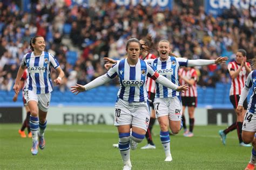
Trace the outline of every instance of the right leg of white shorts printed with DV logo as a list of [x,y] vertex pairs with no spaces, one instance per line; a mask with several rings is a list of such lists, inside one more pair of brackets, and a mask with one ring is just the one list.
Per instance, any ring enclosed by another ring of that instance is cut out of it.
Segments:
[[173,98],[169,98],[168,110],[169,110],[169,119],[170,120],[180,121],[181,113],[183,112],[182,109],[183,109],[183,106],[177,96],[173,97]]

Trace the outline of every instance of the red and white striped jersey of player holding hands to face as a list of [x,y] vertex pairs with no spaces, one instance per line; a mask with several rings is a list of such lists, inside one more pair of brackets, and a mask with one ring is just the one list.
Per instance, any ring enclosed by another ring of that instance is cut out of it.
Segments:
[[[250,63],[246,62],[248,66],[251,67]],[[228,71],[237,71],[239,69],[240,65],[237,64],[237,62],[230,62],[227,65]],[[230,96],[231,95],[240,95],[242,89],[245,86],[245,81],[247,78],[246,69],[245,66],[242,67],[241,71],[239,72],[238,76],[231,80],[231,88],[230,88]]]

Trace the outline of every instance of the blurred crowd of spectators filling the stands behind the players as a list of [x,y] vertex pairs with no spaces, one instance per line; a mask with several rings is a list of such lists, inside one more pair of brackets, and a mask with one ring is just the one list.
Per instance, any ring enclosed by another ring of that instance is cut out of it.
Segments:
[[[155,46],[160,39],[171,42],[173,53],[188,59],[215,59],[227,56],[228,62],[242,48],[247,59],[256,52],[256,6],[236,9],[231,6],[214,18],[204,7],[194,8],[194,1],[182,0],[173,10],[150,6],[117,6],[112,1],[93,5],[70,1],[31,1],[31,12],[23,12],[11,1],[0,2],[0,90],[12,89],[30,38],[41,35],[46,51],[51,52],[65,72],[60,90],[76,83],[86,84],[104,74],[103,57],[125,57],[125,42],[130,37],[150,34]],[[70,63],[68,52],[77,59]],[[152,49],[157,55],[156,49]],[[201,86],[230,83],[227,64],[197,67]],[[52,78],[56,73],[52,72]],[[117,82],[116,82],[117,83]]]

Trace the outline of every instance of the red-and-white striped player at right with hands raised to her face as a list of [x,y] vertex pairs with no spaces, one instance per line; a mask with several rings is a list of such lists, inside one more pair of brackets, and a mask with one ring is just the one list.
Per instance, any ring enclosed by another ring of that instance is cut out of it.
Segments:
[[[244,49],[239,49],[236,53],[235,61],[228,63],[228,71],[230,72],[231,87],[230,87],[230,101],[235,108],[237,108],[238,101],[241,95],[242,88],[245,86],[245,80],[247,74],[250,73],[251,65],[246,62],[246,51]],[[244,100],[244,110],[241,115],[237,116],[237,121],[227,127],[225,130],[220,130],[219,135],[221,137],[221,141],[224,145],[226,145],[226,135],[233,131],[237,130],[238,140],[240,146],[250,147],[251,145],[246,145],[242,141],[242,121],[245,117],[245,112],[247,109],[247,99]]]

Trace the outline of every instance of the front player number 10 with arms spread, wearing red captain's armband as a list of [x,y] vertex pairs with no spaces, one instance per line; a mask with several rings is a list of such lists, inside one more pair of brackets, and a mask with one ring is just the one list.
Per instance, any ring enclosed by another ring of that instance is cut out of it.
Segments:
[[[131,38],[127,40],[126,51],[127,58],[114,64],[106,74],[84,86],[79,84],[72,86],[71,92],[78,94],[90,90],[118,76],[120,89],[115,105],[114,125],[117,126],[119,133],[118,145],[124,163],[123,169],[131,169],[130,146],[135,149],[137,143],[142,142],[149,126],[150,109],[146,91],[147,77],[151,77],[166,88],[176,91],[186,91],[188,87],[173,84],[170,80],[155,72],[144,60],[139,59],[140,43],[138,39]],[[130,137],[131,125],[132,134]]]

